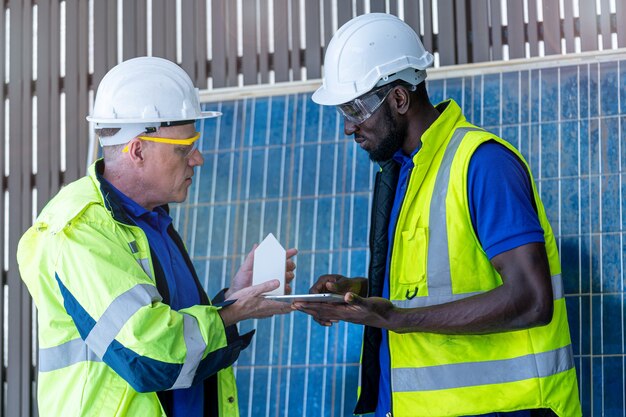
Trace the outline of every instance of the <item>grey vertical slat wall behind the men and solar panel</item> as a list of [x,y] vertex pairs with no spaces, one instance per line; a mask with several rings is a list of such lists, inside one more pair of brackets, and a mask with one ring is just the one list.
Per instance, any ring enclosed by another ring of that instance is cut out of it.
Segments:
[[[0,357],[8,355],[0,367],[0,380],[7,382],[7,391],[0,390],[0,415],[8,416],[37,415],[32,402],[36,364],[28,354],[36,349],[31,346],[31,301],[16,268],[17,242],[30,225],[32,212],[41,210],[63,184],[85,173],[90,134],[85,115],[90,97],[107,70],[120,60],[145,54],[165,57],[178,62],[200,88],[318,79],[324,49],[334,31],[365,12],[402,13],[401,17],[421,35],[426,49],[438,54],[438,65],[442,66],[540,53],[575,53],[577,48],[626,47],[626,25],[621,24],[626,21],[626,3],[615,2],[616,10],[611,14],[610,0],[600,0],[599,8],[596,1],[587,0],[2,3],[0,80],[8,76],[8,81],[0,92],[0,131],[8,140],[8,155],[5,146],[0,146],[0,210],[8,213],[11,221],[8,229],[0,221],[2,244],[6,238],[9,245],[2,248],[9,253],[2,284],[8,286],[10,300],[5,306],[0,297],[0,318],[9,323],[8,351],[4,350],[5,341],[0,341]],[[238,10],[239,4],[242,10]],[[438,33],[433,31],[434,23]],[[602,35],[600,39],[598,35]],[[9,73],[5,74],[7,68]],[[8,176],[4,175],[5,160],[10,161]]]

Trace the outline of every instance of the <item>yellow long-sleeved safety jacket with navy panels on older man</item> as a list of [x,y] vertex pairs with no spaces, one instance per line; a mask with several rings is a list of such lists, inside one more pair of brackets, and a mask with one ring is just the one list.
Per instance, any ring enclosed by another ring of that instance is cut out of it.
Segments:
[[206,415],[238,416],[230,365],[252,334],[224,327],[173,227],[205,305],[164,302],[158,259],[100,182],[103,166],[64,187],[19,242],[38,310],[39,415],[165,416],[167,390],[203,383]]

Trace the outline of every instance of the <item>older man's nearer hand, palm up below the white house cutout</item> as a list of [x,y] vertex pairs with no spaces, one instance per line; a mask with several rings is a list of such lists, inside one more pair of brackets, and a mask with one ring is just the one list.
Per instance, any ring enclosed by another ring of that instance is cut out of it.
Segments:
[[246,319],[262,319],[295,310],[295,307],[289,303],[267,300],[263,296],[278,288],[279,285],[280,282],[274,279],[232,293],[228,299],[235,300],[235,302],[219,310],[224,325],[230,326]]

